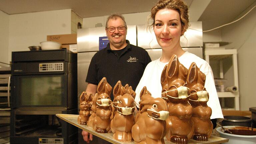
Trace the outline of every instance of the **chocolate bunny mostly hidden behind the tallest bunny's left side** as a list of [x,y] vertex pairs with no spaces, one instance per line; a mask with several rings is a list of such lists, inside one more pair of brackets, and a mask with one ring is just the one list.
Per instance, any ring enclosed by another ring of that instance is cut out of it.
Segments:
[[162,95],[161,97],[167,102],[167,105],[169,106],[170,102],[167,98],[167,89],[168,89],[168,83],[166,79],[166,69],[167,65],[165,65],[162,74],[161,74],[161,85],[162,85]]

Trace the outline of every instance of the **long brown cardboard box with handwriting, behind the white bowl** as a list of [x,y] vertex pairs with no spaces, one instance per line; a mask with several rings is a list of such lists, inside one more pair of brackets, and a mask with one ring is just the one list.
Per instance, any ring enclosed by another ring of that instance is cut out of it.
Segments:
[[55,41],[61,44],[76,44],[77,34],[48,35],[47,41]]

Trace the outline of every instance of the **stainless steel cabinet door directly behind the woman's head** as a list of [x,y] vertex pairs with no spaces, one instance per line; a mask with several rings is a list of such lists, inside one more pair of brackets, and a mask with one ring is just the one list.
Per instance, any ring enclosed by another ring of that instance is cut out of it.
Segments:
[[[190,22],[190,27],[180,38],[181,47],[203,47],[202,22]],[[161,48],[154,34],[154,31],[147,31],[147,25],[137,25],[138,46],[144,49]]]

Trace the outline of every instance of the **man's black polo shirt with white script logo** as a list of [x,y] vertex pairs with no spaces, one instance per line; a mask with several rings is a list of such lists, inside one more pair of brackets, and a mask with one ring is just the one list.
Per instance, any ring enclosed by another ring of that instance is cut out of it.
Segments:
[[[106,77],[112,89],[121,80],[123,86],[129,84],[135,91],[151,59],[146,50],[130,44],[128,40],[126,42],[127,46],[120,55],[110,49],[109,43],[106,48],[98,51],[91,60],[86,82],[98,85]],[[113,100],[112,93],[111,99]]]

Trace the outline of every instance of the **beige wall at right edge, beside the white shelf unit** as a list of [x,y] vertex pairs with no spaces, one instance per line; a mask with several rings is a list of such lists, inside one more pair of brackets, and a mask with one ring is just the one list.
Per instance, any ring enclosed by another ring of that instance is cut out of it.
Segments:
[[240,110],[249,110],[255,107],[256,96],[256,8],[240,21],[225,26],[222,40],[230,43],[226,48],[237,49]]

